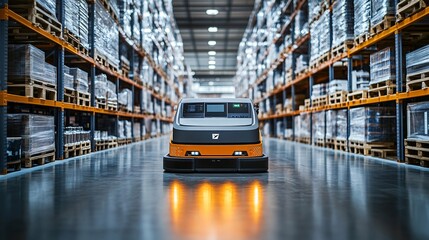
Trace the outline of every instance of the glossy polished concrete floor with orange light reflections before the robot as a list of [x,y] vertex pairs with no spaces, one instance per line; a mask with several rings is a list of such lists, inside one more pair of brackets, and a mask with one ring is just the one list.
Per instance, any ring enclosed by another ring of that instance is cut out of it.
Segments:
[[0,177],[0,239],[429,239],[429,171],[266,139],[269,173],[162,171],[168,137]]

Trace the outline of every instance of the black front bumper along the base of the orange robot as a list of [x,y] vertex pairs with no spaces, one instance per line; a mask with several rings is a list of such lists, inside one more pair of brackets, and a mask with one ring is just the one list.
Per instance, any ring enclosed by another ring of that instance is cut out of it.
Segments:
[[268,157],[171,157],[164,156],[166,172],[266,172]]

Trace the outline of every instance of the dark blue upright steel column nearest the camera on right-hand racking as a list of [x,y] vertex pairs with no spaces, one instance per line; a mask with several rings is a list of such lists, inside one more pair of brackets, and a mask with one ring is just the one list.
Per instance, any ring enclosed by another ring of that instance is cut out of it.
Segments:
[[[402,34],[395,34],[395,54],[396,54],[396,91],[403,92],[403,52],[402,52]],[[402,101],[396,103],[396,152],[398,161],[403,162],[405,160],[404,153],[404,103]]]

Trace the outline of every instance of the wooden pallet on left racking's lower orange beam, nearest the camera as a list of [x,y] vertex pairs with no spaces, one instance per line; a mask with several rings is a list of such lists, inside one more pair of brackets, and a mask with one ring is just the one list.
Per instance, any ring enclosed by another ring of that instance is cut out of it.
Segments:
[[57,100],[57,87],[51,83],[31,80],[29,78],[10,80],[12,82],[8,82],[8,93],[31,98]]

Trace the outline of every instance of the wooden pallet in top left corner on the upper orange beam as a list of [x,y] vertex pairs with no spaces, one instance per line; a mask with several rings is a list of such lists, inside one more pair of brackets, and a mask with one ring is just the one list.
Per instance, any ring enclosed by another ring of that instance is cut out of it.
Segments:
[[61,23],[55,16],[49,14],[38,1],[11,1],[9,8],[32,22],[34,26],[62,38]]

